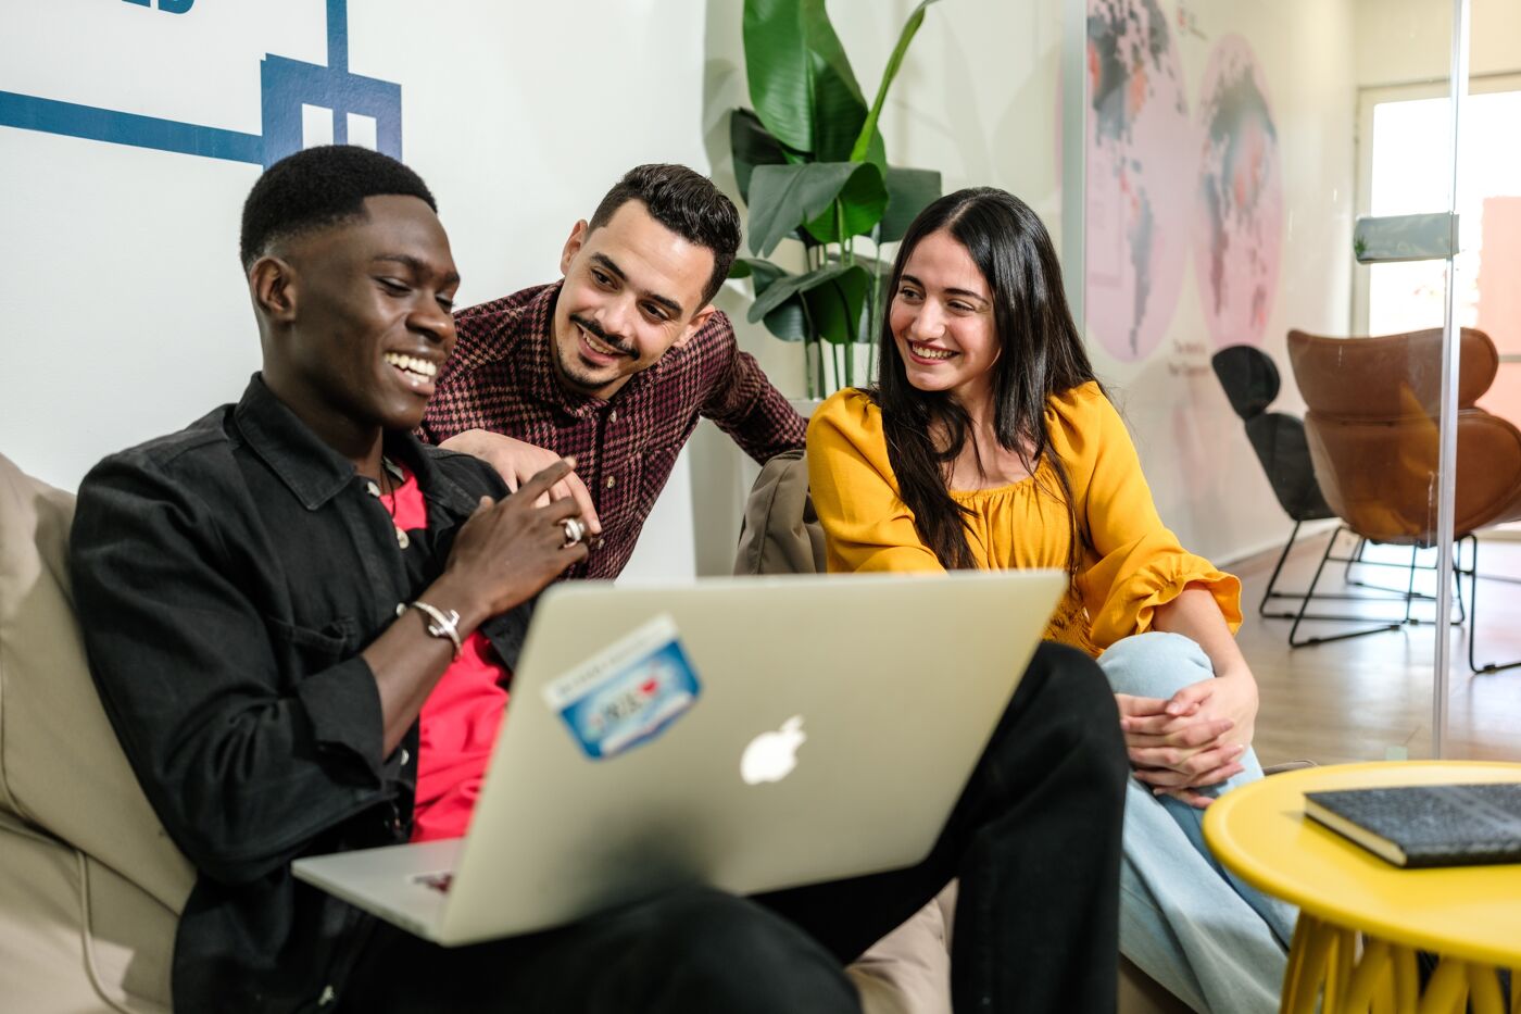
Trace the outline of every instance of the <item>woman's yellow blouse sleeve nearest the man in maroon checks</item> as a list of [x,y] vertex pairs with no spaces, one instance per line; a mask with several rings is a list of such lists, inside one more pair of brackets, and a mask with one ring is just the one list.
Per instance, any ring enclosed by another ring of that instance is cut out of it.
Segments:
[[808,423],[808,483],[834,571],[943,571],[919,539],[887,460],[882,413],[843,390]]

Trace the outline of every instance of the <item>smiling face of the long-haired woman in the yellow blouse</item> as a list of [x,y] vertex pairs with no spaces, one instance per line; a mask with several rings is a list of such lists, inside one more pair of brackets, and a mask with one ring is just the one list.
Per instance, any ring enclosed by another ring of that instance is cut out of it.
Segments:
[[911,385],[951,391],[973,416],[992,402],[993,364],[1002,352],[993,294],[949,231],[929,233],[908,254],[888,327]]

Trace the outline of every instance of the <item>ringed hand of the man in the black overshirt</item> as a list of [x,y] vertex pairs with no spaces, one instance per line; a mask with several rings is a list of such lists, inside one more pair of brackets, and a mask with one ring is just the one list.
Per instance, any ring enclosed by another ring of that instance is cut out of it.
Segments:
[[459,528],[443,576],[433,582],[438,604],[458,609],[465,626],[475,627],[528,601],[567,566],[586,559],[584,542],[566,545],[564,522],[580,515],[576,501],[551,498],[572,466],[573,461],[557,460],[523,483],[519,495],[500,502],[481,498]]

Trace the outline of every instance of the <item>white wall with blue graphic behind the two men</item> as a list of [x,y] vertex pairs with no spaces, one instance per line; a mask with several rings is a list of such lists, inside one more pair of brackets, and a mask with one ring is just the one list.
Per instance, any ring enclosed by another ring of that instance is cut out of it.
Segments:
[[[0,91],[257,134],[260,59],[324,64],[322,0],[0,0]],[[461,305],[557,277],[630,166],[703,151],[700,0],[348,5],[350,70],[402,85]],[[0,126],[0,454],[73,487],[103,454],[236,400],[259,367],[237,265],[259,166]],[[678,466],[633,572],[689,574]]]

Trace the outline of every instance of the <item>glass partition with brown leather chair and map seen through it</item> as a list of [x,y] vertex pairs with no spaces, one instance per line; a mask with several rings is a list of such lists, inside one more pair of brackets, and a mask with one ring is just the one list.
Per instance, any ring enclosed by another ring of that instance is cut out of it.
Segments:
[[[1083,129],[1065,139],[1069,288],[1164,519],[1244,580],[1259,754],[1521,755],[1483,717],[1516,728],[1515,705],[1497,709],[1521,693],[1468,665],[1475,632],[1480,665],[1521,658],[1521,594],[1495,580],[1521,577],[1521,544],[1483,540],[1477,617],[1474,580],[1451,572],[1474,545],[1443,548],[1495,519],[1494,475],[1454,483],[1483,472],[1451,466],[1474,454],[1459,394],[1521,414],[1521,8],[1065,15],[1084,40],[1063,76],[1063,122]],[[1494,382],[1481,350],[1459,364],[1459,327],[1494,332]]]

